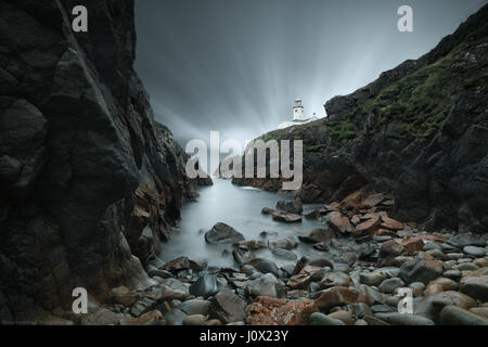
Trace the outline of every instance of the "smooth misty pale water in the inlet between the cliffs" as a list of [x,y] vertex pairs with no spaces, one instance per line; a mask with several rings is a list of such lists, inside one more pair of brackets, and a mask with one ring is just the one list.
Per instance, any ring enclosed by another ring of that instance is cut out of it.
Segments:
[[[283,223],[272,220],[271,216],[261,215],[262,207],[275,208],[280,200],[293,200],[292,195],[278,195],[253,188],[243,188],[226,180],[214,180],[214,185],[198,189],[200,197],[196,203],[184,203],[181,209],[181,222],[174,231],[171,240],[163,243],[159,258],[168,261],[187,256],[196,261],[208,261],[215,267],[235,267],[232,257],[232,245],[210,245],[205,242],[201,229],[209,230],[217,222],[224,222],[241,232],[245,240],[268,240],[281,237],[297,237],[300,232],[321,228],[320,221],[303,218],[301,223]],[[305,205],[304,211],[317,208],[320,205]],[[274,231],[278,235],[262,239],[262,231]],[[223,249],[229,250],[227,257]],[[300,243],[294,249],[298,258],[303,255],[319,255],[310,245]],[[296,261],[275,258],[269,249],[254,250],[256,257],[268,258],[277,265]],[[322,254],[323,255],[323,254]]]

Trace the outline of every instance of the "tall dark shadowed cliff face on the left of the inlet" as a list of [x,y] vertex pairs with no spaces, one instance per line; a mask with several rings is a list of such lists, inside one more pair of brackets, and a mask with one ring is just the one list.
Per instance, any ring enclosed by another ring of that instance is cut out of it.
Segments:
[[[88,33],[70,29],[89,11]],[[192,183],[134,73],[132,0],[0,2],[0,319],[144,287]]]

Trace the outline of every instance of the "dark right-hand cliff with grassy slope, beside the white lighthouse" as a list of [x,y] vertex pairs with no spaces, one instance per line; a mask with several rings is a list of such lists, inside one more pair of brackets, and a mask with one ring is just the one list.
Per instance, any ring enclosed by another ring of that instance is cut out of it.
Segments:
[[326,102],[328,119],[265,134],[304,140],[304,201],[339,201],[368,188],[393,193],[395,215],[406,221],[487,232],[487,18],[488,5],[418,61]]

